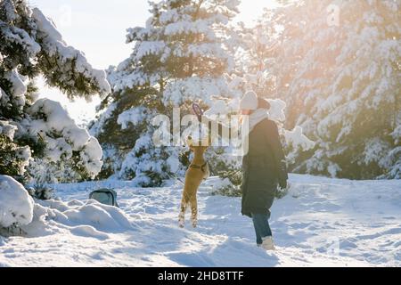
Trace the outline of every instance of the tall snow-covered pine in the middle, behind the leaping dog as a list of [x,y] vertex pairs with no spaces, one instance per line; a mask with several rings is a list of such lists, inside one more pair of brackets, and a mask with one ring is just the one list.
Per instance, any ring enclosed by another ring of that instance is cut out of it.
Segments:
[[[101,105],[92,126],[105,152],[102,175],[134,178],[138,185],[160,184],[182,172],[188,158],[176,147],[156,148],[151,137],[157,114],[182,115],[192,102],[213,104],[212,96],[231,96],[226,73],[233,58],[226,25],[237,12],[236,0],[164,0],[151,3],[146,27],[129,28],[134,52],[109,69],[113,94]],[[169,126],[168,126],[169,128]]]

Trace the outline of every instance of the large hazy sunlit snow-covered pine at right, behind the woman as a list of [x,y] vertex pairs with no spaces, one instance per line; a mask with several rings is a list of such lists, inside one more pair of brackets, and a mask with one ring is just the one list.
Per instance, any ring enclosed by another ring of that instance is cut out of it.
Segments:
[[295,171],[401,177],[399,5],[306,0],[274,12],[276,95],[288,126],[317,142]]

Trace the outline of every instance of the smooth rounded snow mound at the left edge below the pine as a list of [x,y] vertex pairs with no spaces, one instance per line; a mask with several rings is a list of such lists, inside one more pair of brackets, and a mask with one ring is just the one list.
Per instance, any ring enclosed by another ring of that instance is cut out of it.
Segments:
[[34,200],[28,191],[12,177],[0,175],[0,226],[29,224],[33,208]]

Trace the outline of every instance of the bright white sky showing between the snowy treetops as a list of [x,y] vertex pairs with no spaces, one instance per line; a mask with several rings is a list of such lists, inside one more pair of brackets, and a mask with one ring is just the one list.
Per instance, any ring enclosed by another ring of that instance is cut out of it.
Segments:
[[[144,26],[150,12],[147,0],[29,0],[55,22],[64,40],[86,54],[96,69],[118,65],[131,53],[133,45],[126,45],[126,29]],[[261,15],[263,8],[274,6],[274,0],[242,0],[237,20],[251,24]],[[57,90],[42,86],[41,94],[60,101],[71,117],[82,121],[94,118],[98,100],[69,102]]]

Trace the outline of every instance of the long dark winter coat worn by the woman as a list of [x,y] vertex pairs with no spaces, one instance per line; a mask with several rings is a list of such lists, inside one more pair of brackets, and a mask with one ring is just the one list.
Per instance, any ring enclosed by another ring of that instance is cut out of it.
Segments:
[[242,159],[241,213],[270,214],[277,184],[288,179],[277,125],[264,119],[249,134],[249,151]]

